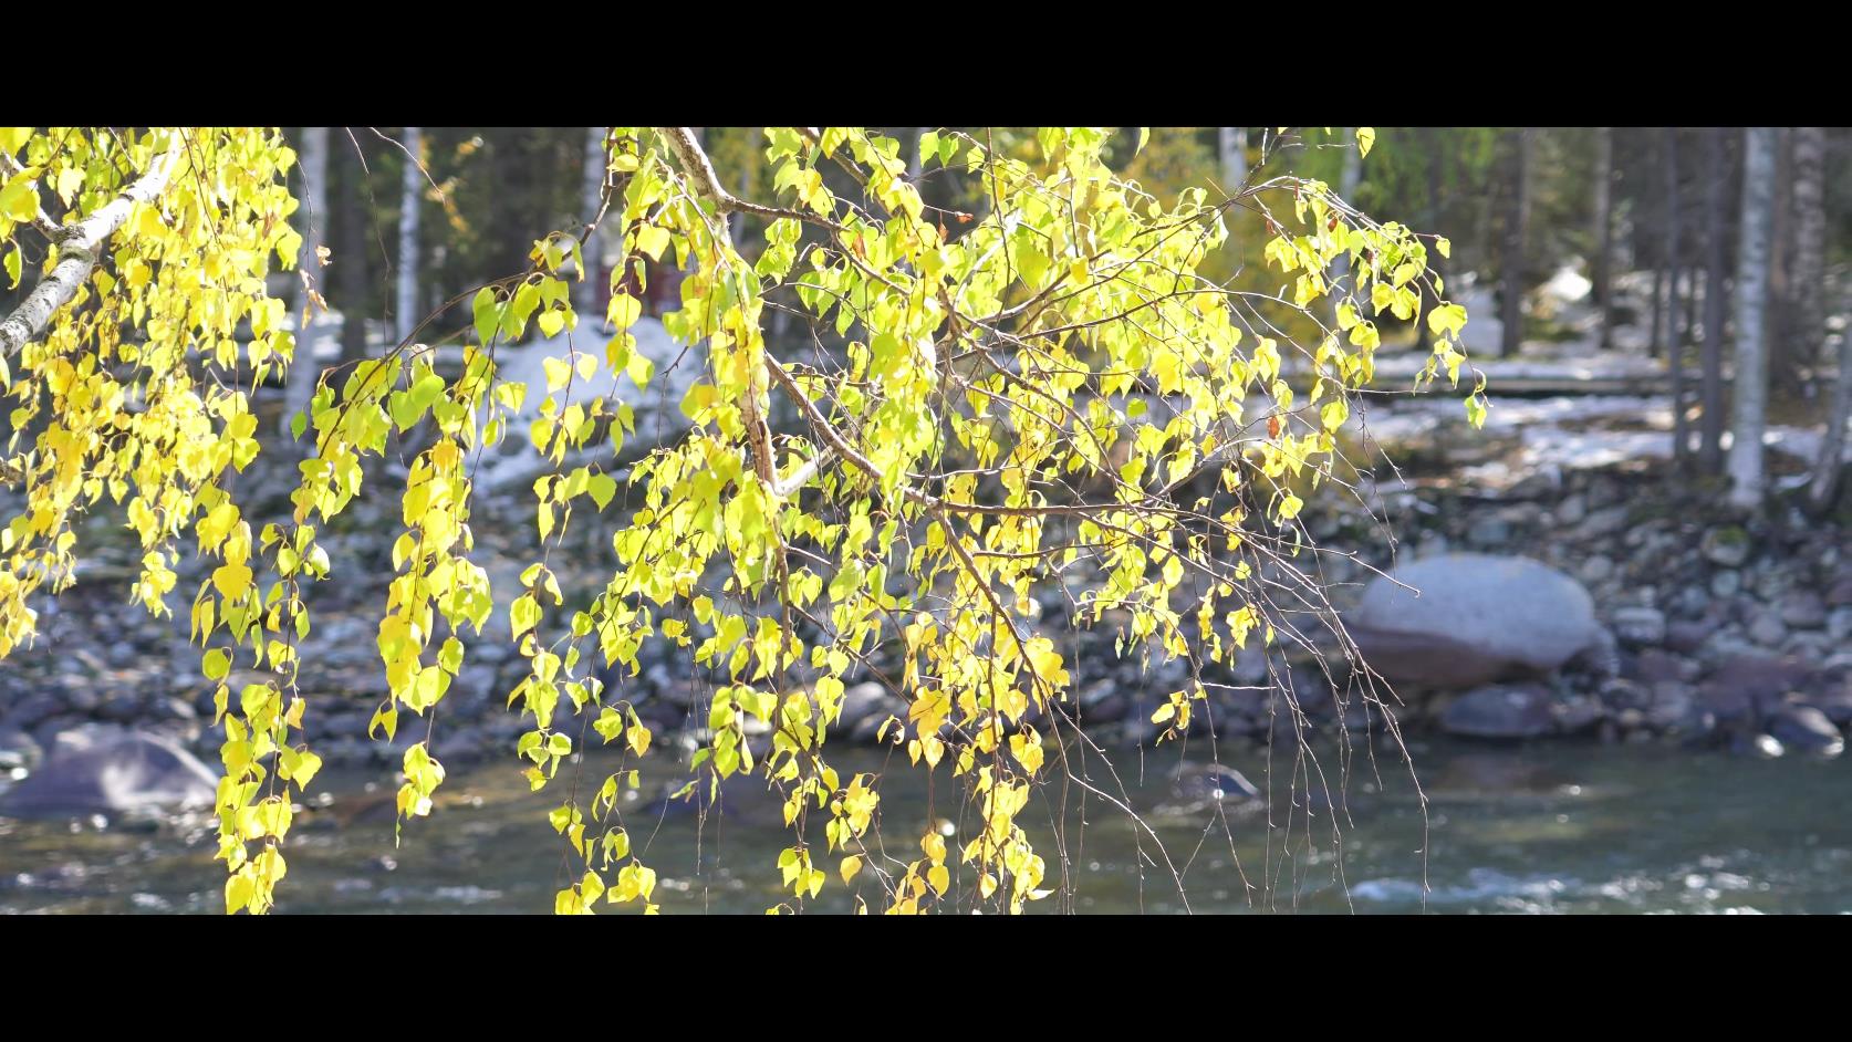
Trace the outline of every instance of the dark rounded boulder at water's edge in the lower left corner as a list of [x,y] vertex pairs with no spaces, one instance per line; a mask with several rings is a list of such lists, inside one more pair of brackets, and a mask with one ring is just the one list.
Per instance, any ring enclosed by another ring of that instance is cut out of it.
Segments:
[[44,766],[0,796],[9,818],[148,814],[211,807],[219,777],[174,742],[141,731],[57,742]]

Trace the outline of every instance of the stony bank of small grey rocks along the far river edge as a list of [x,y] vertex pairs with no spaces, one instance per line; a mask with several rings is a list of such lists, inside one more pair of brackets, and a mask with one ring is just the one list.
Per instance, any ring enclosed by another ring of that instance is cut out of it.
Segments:
[[[1704,498],[1669,496],[1663,465],[1654,461],[1533,472],[1509,483],[1467,483],[1458,466],[1446,474],[1454,476],[1404,479],[1374,492],[1372,505],[1398,539],[1395,557],[1361,511],[1306,518],[1322,544],[1361,553],[1324,559],[1333,602],[1354,605],[1372,577],[1369,566],[1461,550],[1524,555],[1587,589],[1595,620],[1613,633],[1619,655],[1608,670],[1569,666],[1465,692],[1400,683],[1395,713],[1404,727],[1496,740],[1724,744],[1754,755],[1835,755],[1843,748],[1852,726],[1852,552],[1839,526],[1800,518],[1745,526],[1711,511]],[[506,500],[502,511],[513,522],[519,500]],[[343,577],[317,589],[311,602],[315,629],[304,644],[302,687],[311,696],[309,740],[330,763],[396,763],[406,744],[428,733],[411,724],[396,742],[367,737],[385,694],[374,631],[391,566],[389,537],[380,531],[391,524],[356,516],[330,537]],[[482,559],[498,589],[515,585],[532,559],[520,533],[519,524],[480,526]],[[561,577],[589,590],[607,572],[589,531],[582,550],[583,557],[574,555],[580,572]],[[124,603],[130,568],[111,563],[109,552],[94,561],[78,587],[41,603],[39,642],[0,670],[0,770],[33,766],[59,733],[109,727],[163,733],[211,763],[220,735],[211,727],[211,687],[198,674],[183,618],[156,620]],[[1111,620],[1069,629],[1063,605],[1061,590],[1046,592],[1043,626],[1057,635],[1076,677],[1067,713],[1106,744],[1156,738],[1150,713],[1187,683],[1185,666],[1120,659]],[[504,629],[500,637],[494,626]],[[506,618],[494,626],[474,642],[437,709],[430,735],[443,759],[513,755],[522,722],[504,705],[526,663],[506,642]],[[232,679],[237,687],[257,677]],[[1350,683],[1343,659],[1330,653],[1320,664],[1306,651],[1272,659],[1250,651],[1202,679],[1209,705],[1195,727],[1204,735],[1265,740],[1289,733],[1295,720],[1308,731],[1385,726]],[[687,659],[661,646],[646,651],[639,677],[622,679],[622,696],[646,720],[687,740],[698,738],[704,720],[694,709],[702,690]],[[889,714],[906,716],[880,683],[852,685],[843,735],[872,742]]]

